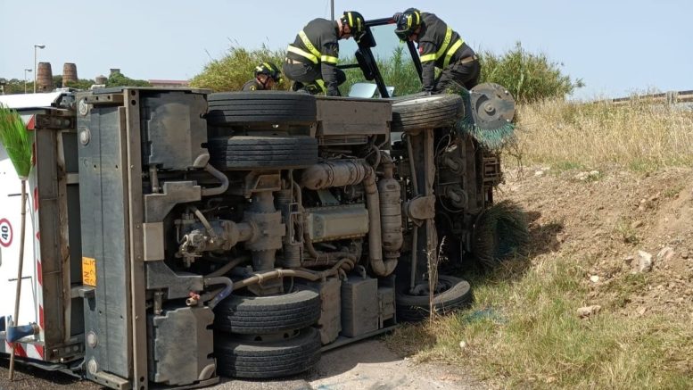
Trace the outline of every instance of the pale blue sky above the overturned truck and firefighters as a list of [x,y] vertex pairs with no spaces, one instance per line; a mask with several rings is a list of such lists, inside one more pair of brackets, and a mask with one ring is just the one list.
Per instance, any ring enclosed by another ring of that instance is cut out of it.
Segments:
[[[476,50],[501,54],[520,41],[546,54],[587,84],[577,98],[693,89],[690,0],[334,0],[335,13],[367,19],[409,6],[436,13]],[[85,79],[110,68],[135,79],[189,79],[232,45],[283,49],[317,17],[330,17],[329,0],[0,0],[0,77],[22,79],[34,44],[44,44],[38,61],[54,74],[75,62]]]

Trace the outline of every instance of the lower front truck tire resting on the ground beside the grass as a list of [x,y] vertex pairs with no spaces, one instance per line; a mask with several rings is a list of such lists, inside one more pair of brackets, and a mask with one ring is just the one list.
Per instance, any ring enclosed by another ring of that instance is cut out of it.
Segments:
[[[466,280],[447,275],[438,276],[438,280],[447,288],[445,291],[433,295],[433,310],[436,313],[444,314],[454,311],[472,302],[472,289]],[[399,289],[395,300],[397,319],[419,321],[429,315],[428,295],[409,295],[408,291]]]

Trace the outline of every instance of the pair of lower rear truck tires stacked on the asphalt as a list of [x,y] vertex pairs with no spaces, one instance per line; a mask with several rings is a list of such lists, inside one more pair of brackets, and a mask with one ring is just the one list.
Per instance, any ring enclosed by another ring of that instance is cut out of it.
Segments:
[[232,295],[214,308],[219,374],[277,378],[299,374],[320,360],[320,296],[309,289],[285,295]]

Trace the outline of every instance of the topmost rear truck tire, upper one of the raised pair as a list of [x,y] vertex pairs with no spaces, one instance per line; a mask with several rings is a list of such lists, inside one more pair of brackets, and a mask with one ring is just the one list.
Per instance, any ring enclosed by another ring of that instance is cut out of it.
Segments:
[[295,92],[221,92],[208,95],[207,102],[206,118],[213,126],[310,125],[318,118],[315,96]]

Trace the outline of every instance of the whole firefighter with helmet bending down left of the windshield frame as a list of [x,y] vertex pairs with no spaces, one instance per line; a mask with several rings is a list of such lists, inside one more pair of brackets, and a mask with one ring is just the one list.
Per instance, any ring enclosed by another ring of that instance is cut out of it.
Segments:
[[336,21],[319,18],[309,21],[286,49],[282,71],[287,79],[293,80],[292,89],[341,95],[338,86],[346,81],[346,75],[337,69],[339,40],[354,37],[359,42],[364,34],[366,22],[355,11],[344,12]]

